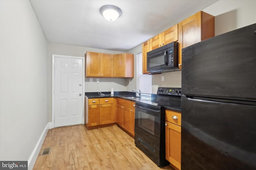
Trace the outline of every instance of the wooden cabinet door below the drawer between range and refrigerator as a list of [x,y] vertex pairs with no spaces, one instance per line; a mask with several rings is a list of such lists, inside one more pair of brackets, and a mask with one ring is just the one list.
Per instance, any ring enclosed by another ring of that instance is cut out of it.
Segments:
[[181,127],[165,121],[165,154],[171,166],[180,169],[181,163]]

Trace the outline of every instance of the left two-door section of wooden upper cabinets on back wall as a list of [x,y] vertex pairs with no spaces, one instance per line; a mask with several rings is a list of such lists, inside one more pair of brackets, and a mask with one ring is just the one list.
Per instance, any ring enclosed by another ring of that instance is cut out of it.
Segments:
[[87,77],[113,77],[113,55],[86,52]]

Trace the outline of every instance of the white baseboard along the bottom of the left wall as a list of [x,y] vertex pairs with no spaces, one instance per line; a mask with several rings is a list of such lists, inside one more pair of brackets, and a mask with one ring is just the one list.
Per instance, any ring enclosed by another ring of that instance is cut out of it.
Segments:
[[28,159],[28,170],[32,170],[34,167],[34,164],[36,163],[36,159],[38,157],[40,149],[42,148],[42,145],[44,143],[44,139],[46,137],[46,134],[48,132],[50,124],[51,124],[51,122],[47,123],[46,127],[44,128],[43,133],[41,134],[40,138],[38,139],[38,142],[36,143],[36,146],[35,146],[32,154],[30,155],[30,157]]

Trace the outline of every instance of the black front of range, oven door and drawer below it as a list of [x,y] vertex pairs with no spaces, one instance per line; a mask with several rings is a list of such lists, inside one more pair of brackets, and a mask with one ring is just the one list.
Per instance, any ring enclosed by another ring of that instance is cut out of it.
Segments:
[[160,166],[161,109],[136,103],[135,145]]

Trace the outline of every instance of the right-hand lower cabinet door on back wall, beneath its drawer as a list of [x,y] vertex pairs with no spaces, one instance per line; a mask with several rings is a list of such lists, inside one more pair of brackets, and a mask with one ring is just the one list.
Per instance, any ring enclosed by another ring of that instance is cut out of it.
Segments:
[[101,104],[100,105],[100,125],[114,123],[114,105]]

